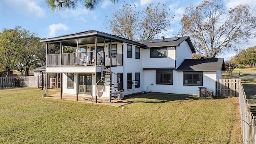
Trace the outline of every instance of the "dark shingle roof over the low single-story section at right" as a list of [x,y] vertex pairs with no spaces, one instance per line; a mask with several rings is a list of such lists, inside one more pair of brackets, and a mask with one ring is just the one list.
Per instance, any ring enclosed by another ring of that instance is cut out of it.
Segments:
[[176,71],[225,71],[224,58],[185,59]]

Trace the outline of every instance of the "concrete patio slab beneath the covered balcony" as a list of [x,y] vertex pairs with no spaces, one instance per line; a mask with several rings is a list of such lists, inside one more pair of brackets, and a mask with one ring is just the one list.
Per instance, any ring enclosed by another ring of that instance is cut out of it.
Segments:
[[75,102],[85,102],[85,103],[90,103],[90,104],[102,104],[102,105],[108,105],[108,106],[123,106],[125,104],[132,103],[132,101],[125,101],[125,100],[111,100],[112,103],[110,103],[109,98],[97,98],[97,103],[96,103],[95,98],[78,96],[78,100],[76,100],[76,96],[68,95],[68,94],[62,94],[61,99],[60,99],[60,94],[51,94],[51,95],[48,95],[48,97],[44,97],[44,98],[52,98],[52,99],[58,99],[58,100],[71,100],[71,101],[75,101]]

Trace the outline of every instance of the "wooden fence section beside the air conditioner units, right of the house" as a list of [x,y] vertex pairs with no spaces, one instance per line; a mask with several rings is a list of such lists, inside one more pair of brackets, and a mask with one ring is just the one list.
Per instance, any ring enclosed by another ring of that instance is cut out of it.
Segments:
[[240,79],[216,79],[216,96],[238,97]]

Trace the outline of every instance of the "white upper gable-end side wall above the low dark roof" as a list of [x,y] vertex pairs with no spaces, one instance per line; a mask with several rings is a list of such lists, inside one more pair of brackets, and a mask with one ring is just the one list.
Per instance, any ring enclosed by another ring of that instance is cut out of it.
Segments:
[[184,59],[192,59],[192,51],[188,45],[188,42],[183,41],[180,46],[176,47],[176,68],[182,64]]

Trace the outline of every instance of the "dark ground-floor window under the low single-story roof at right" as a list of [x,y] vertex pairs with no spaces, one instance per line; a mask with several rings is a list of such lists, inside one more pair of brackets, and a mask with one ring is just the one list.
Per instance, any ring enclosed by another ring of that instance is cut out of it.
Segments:
[[183,72],[183,85],[202,86],[203,72]]

